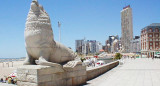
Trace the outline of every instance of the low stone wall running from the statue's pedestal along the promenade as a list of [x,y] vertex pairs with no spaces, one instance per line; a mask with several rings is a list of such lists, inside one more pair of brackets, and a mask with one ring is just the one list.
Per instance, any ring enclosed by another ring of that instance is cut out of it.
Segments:
[[87,80],[93,79],[105,72],[107,72],[108,70],[116,67],[119,64],[119,61],[114,61],[99,67],[95,67],[92,69],[87,69]]

